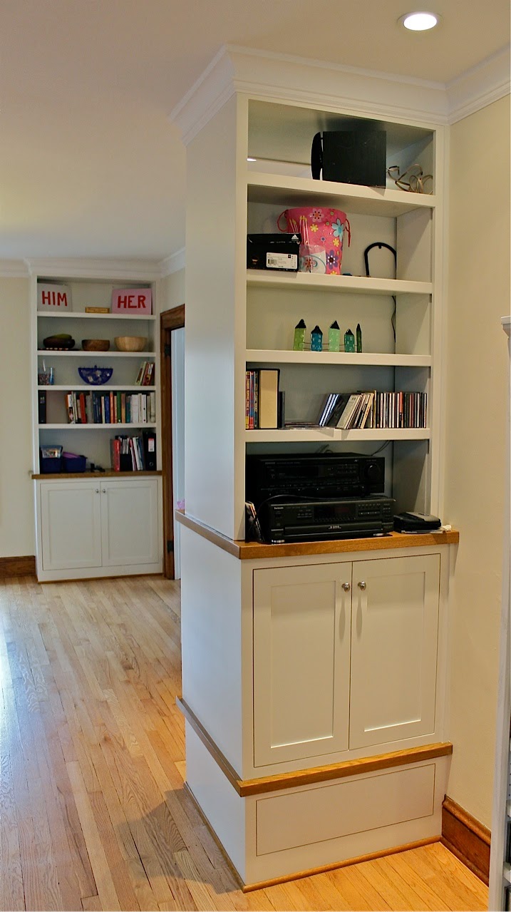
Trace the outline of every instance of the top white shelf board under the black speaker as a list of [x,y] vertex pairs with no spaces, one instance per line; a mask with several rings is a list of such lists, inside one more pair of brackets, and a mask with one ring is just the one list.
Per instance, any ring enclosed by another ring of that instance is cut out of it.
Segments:
[[282,206],[301,206],[315,202],[360,215],[388,215],[395,218],[413,209],[434,209],[436,200],[427,193],[362,187],[352,183],[313,181],[251,171],[247,180],[249,202],[271,202]]

